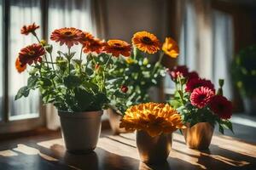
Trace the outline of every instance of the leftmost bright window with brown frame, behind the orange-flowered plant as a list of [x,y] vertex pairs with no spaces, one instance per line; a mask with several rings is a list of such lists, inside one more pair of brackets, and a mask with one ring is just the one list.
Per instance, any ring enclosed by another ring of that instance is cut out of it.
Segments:
[[[42,26],[42,4],[34,0],[1,0],[0,4],[0,50],[3,52],[0,58],[3,65],[0,75],[0,133],[30,130],[43,125],[39,93],[34,91],[28,98],[15,101],[15,94],[26,85],[28,77],[26,73],[16,71],[15,59],[20,48],[35,42],[33,37],[20,35],[20,28],[32,22]],[[38,34],[42,35],[41,32]]]

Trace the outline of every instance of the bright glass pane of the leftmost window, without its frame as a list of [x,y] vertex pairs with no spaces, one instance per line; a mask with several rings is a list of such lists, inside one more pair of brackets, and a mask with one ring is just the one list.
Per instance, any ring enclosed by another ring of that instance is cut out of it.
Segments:
[[[15,101],[15,94],[19,88],[26,85],[28,73],[18,73],[15,70],[15,59],[24,48],[32,42],[37,42],[32,35],[20,35],[20,28],[35,22],[41,25],[40,1],[11,0],[10,1],[10,26],[9,26],[9,119],[16,120],[38,116],[39,93],[32,91],[28,98]],[[41,30],[37,31],[41,37]]]

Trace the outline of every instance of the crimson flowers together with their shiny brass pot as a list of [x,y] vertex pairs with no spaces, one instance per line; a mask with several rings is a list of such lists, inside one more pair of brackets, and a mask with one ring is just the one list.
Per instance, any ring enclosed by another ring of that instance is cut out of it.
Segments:
[[176,85],[170,103],[187,126],[183,135],[189,148],[207,149],[216,123],[220,133],[224,133],[224,127],[233,132],[229,121],[232,104],[223,96],[224,80],[219,80],[216,93],[211,81],[200,78],[195,71],[189,72],[185,65],[175,66],[168,72]]

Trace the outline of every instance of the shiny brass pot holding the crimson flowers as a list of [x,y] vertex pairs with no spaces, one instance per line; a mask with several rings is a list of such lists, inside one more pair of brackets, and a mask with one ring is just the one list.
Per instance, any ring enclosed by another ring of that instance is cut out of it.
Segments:
[[186,144],[191,149],[207,150],[212,141],[214,127],[208,122],[198,122],[193,127],[183,129]]

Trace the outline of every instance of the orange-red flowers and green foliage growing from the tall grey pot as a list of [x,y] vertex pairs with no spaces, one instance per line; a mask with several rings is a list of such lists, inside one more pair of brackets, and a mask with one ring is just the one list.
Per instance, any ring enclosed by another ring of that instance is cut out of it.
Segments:
[[[32,34],[38,42],[22,48],[16,59],[17,71],[27,71],[29,78],[15,99],[38,88],[43,102],[59,111],[100,111],[108,106],[107,90],[113,88],[111,79],[107,80],[108,70],[120,55],[131,54],[131,45],[121,40],[104,42],[89,32],[65,27],[53,31],[50,39],[65,44],[67,50],[53,54],[53,46],[38,38],[38,28],[34,23],[21,29],[21,34]],[[73,51],[75,45],[81,49]]]

